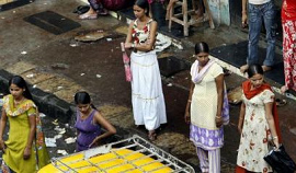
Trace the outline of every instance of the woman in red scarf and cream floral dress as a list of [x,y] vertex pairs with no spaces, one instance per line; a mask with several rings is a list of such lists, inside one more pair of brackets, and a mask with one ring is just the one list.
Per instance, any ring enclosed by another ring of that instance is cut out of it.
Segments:
[[263,157],[269,153],[269,143],[278,148],[281,142],[278,117],[274,93],[264,83],[263,69],[251,65],[249,80],[242,83],[242,104],[238,130],[241,134],[236,173],[272,172]]

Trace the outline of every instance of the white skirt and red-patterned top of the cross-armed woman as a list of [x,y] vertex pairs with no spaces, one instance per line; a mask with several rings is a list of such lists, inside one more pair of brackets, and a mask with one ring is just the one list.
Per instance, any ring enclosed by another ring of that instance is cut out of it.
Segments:
[[[140,44],[148,38],[149,23],[143,31],[137,28],[135,21],[134,30]],[[133,34],[133,37],[135,36]],[[132,53],[132,103],[136,125],[145,125],[146,129],[157,129],[160,124],[167,123],[166,105],[162,93],[160,71],[155,50]]]

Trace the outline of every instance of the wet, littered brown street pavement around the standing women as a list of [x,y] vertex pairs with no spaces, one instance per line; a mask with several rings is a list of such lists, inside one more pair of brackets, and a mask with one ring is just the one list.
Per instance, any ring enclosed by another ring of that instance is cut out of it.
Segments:
[[[7,92],[7,80],[10,74],[5,71],[21,74],[32,84],[36,102],[41,111],[46,114],[43,118],[46,137],[61,135],[57,139],[57,147],[49,148],[52,157],[59,157],[58,150],[66,150],[68,153],[75,151],[75,143],[66,143],[65,139],[76,136],[72,96],[80,90],[89,91],[94,105],[116,126],[118,135],[115,138],[125,138],[132,134],[146,138],[145,129],[136,128],[134,125],[130,85],[124,80],[119,43],[125,39],[126,23],[112,16],[80,21],[71,13],[78,5],[80,2],[75,0],[38,0],[18,9],[0,12],[0,68],[3,69],[0,71],[0,91]],[[81,26],[65,34],[54,35],[22,20],[46,10],[67,16]],[[89,31],[104,31],[109,36],[90,43],[75,41],[77,35]],[[207,30],[206,26],[201,26],[196,28],[196,34],[193,36],[180,42],[175,41],[182,43],[183,49],[171,46],[160,53],[159,57],[175,56],[192,62],[194,42],[208,41],[209,46],[214,48],[244,38],[246,33],[240,33],[237,28],[221,26],[217,30]],[[200,172],[194,147],[187,138],[189,126],[183,122],[190,86],[189,70],[162,79],[169,124],[161,128],[155,143],[192,164],[196,172]],[[226,77],[228,89],[238,86],[243,80],[244,78],[236,73]],[[276,83],[273,84],[278,86]],[[287,150],[296,158],[293,150],[293,146],[296,145],[296,122],[293,117],[295,102],[286,100],[288,104],[280,107],[283,115],[281,126],[285,137],[284,143],[287,143]],[[221,150],[224,173],[234,172],[236,164],[239,142],[236,130],[238,112],[239,106],[232,105],[230,125],[225,129],[226,145]],[[60,128],[65,128],[65,131]]]

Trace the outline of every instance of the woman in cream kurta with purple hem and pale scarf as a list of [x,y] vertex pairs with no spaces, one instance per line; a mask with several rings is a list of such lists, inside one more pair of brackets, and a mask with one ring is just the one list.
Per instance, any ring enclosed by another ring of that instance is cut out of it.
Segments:
[[190,139],[196,147],[202,172],[219,173],[223,124],[229,122],[229,106],[223,68],[208,56],[208,45],[197,43],[185,122],[191,124]]

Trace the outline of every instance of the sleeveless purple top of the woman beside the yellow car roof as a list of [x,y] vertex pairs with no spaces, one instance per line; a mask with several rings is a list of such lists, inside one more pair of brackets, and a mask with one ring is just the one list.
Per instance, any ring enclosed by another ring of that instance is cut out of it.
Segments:
[[89,117],[87,117],[86,119],[81,118],[79,111],[77,113],[77,119],[75,124],[75,127],[78,129],[79,132],[77,137],[77,151],[88,150],[93,139],[101,134],[101,126],[93,123],[93,116],[95,112],[95,109],[92,111]]

